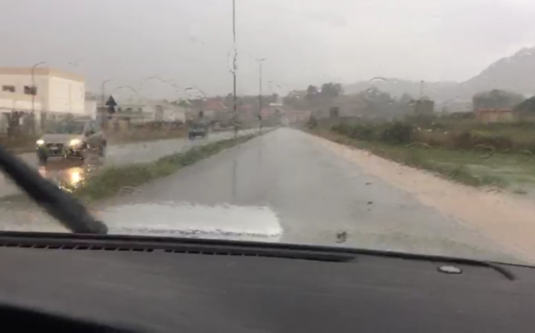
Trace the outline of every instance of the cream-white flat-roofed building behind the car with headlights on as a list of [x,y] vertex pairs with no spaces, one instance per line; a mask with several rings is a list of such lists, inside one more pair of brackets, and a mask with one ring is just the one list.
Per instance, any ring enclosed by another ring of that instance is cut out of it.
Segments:
[[36,67],[32,73],[31,67],[0,67],[0,112],[13,111],[33,111],[37,128],[41,119],[58,114],[87,117],[85,78],[51,68]]

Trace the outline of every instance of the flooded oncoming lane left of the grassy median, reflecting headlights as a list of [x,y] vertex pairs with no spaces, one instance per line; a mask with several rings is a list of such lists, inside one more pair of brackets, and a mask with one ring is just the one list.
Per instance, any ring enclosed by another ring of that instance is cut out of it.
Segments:
[[[254,133],[255,130],[242,130],[239,135]],[[98,171],[101,167],[124,165],[142,162],[151,162],[158,158],[173,153],[187,151],[192,146],[216,142],[222,139],[231,139],[233,132],[211,133],[206,139],[166,139],[153,142],[137,142],[132,144],[116,144],[108,146],[106,157],[99,157],[95,153],[89,153],[85,160],[69,158],[51,158],[46,166],[38,165],[35,153],[19,155],[24,162],[38,169],[41,176],[54,182],[76,185],[83,178]],[[0,174],[0,197],[19,194],[19,189],[10,180]]]

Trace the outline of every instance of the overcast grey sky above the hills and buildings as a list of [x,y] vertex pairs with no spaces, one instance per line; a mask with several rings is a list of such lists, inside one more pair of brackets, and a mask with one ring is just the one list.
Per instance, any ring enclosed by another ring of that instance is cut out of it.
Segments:
[[[231,92],[231,0],[1,1],[0,66],[51,67],[98,92]],[[373,76],[466,80],[535,44],[531,0],[236,0],[238,92]],[[169,82],[172,82],[170,84]],[[279,87],[277,87],[279,86]]]

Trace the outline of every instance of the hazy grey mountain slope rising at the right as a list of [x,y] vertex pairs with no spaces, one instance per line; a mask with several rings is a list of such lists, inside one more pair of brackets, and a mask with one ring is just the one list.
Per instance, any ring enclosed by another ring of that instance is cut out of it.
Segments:
[[[424,94],[438,102],[466,101],[477,92],[491,89],[503,89],[527,96],[535,94],[535,47],[520,49],[513,56],[497,60],[481,73],[461,83],[437,82],[425,83]],[[420,82],[386,78],[385,80],[361,81],[345,85],[347,94],[354,94],[368,89],[370,85],[395,96],[403,93],[418,96]]]

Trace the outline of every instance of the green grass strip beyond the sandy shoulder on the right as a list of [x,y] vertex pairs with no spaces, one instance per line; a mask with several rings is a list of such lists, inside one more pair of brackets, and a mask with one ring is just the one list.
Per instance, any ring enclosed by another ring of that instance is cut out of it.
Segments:
[[350,139],[328,130],[313,130],[339,144],[354,146],[410,167],[438,173],[444,178],[474,187],[502,187],[517,194],[535,191],[535,157],[520,154],[482,153],[431,148],[426,145],[389,145]]

